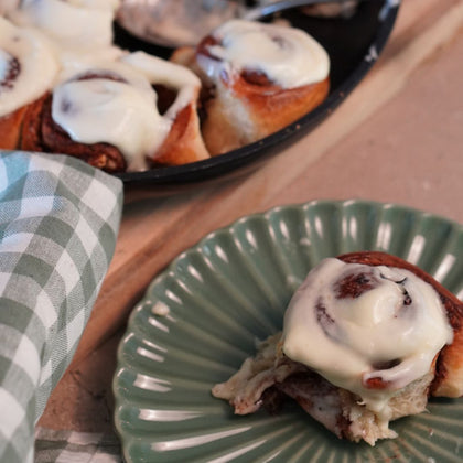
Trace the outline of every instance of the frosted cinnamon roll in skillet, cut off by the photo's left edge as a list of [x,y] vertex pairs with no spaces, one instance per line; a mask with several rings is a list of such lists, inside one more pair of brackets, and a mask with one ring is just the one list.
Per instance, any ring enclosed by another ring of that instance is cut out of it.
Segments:
[[50,90],[58,69],[45,37],[0,17],[0,148],[18,147],[26,108]]

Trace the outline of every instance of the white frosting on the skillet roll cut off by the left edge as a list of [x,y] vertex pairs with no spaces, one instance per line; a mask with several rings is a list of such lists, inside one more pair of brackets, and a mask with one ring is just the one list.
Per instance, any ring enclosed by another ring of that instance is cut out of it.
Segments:
[[[6,85],[14,58],[19,73]],[[40,32],[0,17],[0,117],[41,97],[54,85],[58,68],[53,47]]]

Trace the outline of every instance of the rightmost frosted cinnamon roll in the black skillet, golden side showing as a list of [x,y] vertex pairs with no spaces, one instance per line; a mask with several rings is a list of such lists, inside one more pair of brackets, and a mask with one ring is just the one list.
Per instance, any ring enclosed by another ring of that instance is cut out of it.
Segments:
[[[180,50],[174,61],[189,61]],[[233,20],[196,47],[191,67],[211,88],[203,134],[212,154],[259,140],[320,105],[330,60],[304,31]]]

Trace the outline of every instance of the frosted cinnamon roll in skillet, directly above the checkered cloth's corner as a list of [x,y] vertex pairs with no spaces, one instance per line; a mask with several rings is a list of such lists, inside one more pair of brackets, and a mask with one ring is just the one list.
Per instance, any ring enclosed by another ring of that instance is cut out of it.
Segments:
[[143,52],[128,54],[80,71],[34,105],[21,147],[64,152],[108,172],[197,161],[208,157],[196,115],[198,91],[189,69]]

